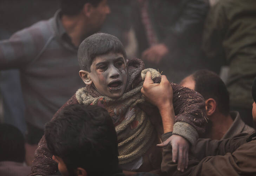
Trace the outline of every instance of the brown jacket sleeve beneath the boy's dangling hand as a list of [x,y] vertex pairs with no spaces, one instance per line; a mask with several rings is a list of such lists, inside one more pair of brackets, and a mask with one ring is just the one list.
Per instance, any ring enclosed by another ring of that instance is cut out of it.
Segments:
[[[236,140],[241,140],[241,138],[247,139],[247,136],[243,136],[243,137],[238,136],[238,139]],[[242,143],[236,144],[236,147],[229,149],[230,146],[234,145],[234,143],[237,142],[234,139],[233,140],[227,139],[227,140],[220,141],[218,150],[223,155],[208,156],[203,158],[200,161],[193,154],[191,154],[189,159],[189,167],[183,173],[177,170],[177,163],[172,162],[171,146],[165,147],[163,149],[163,161],[161,165],[162,173],[163,175],[177,175],[177,176],[240,175],[240,174],[250,175],[252,173],[255,173],[256,172],[256,168],[255,168],[256,162],[254,162],[255,156],[256,156],[255,140],[248,143],[242,142],[243,144]],[[242,141],[245,141],[245,140],[242,140]],[[225,145],[227,145],[227,147],[224,147]],[[207,150],[207,149],[204,148],[204,150]]]

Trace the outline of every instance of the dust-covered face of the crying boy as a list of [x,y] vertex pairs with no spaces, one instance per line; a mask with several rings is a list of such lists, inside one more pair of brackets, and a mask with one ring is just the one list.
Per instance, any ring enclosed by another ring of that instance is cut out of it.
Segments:
[[123,95],[127,83],[127,68],[123,54],[104,54],[94,58],[91,65],[91,78],[99,93],[110,98]]

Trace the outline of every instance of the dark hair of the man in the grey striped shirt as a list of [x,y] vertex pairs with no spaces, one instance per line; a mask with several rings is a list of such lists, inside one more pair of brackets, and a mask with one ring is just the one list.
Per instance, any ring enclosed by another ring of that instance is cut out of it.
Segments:
[[85,3],[91,3],[97,7],[102,0],[61,0],[61,12],[64,15],[74,16],[81,12]]

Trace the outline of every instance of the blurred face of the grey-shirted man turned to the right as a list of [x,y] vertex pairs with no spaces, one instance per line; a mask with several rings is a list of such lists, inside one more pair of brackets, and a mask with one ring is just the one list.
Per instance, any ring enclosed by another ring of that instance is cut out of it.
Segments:
[[100,30],[102,24],[104,23],[107,14],[110,13],[109,5],[107,0],[102,0],[97,7],[94,8],[92,12],[92,24],[91,28],[94,28],[95,31]]

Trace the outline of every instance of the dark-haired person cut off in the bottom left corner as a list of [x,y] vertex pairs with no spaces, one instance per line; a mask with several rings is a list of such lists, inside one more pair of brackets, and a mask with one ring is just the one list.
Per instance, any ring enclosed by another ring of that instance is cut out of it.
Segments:
[[24,166],[25,141],[21,131],[9,124],[0,124],[0,175],[24,176],[31,172]]

